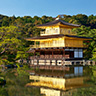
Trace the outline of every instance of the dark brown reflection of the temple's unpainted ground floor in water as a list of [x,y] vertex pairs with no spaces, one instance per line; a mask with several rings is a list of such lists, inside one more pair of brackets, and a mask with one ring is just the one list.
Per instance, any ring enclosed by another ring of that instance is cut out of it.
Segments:
[[30,73],[30,75],[35,76],[45,76],[45,77],[60,77],[69,78],[74,76],[83,76],[83,66],[70,67],[69,70],[35,70],[35,72]]

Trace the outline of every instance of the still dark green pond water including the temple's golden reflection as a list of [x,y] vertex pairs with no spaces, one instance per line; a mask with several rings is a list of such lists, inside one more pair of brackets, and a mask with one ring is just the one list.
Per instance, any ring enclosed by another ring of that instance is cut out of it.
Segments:
[[96,66],[70,66],[61,71],[24,66],[0,75],[6,80],[1,96],[96,96]]

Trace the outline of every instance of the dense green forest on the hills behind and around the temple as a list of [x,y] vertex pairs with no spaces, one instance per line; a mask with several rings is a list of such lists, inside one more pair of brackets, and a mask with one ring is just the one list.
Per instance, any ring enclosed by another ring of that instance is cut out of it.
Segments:
[[[60,17],[58,15],[57,17]],[[81,25],[80,28],[73,29],[78,36],[92,37],[90,41],[84,42],[88,49],[84,51],[84,58],[96,60],[96,16],[85,14],[62,15],[62,20]],[[55,20],[49,16],[24,16],[9,17],[0,15],[0,64],[13,64],[20,58],[28,58],[26,51],[33,42],[26,41],[27,37],[39,36],[42,29],[36,25],[44,24]]]

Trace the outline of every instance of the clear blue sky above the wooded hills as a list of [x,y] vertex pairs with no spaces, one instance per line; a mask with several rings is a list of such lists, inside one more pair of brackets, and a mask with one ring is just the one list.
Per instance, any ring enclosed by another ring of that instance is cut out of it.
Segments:
[[0,14],[16,17],[96,15],[96,0],[0,0]]

